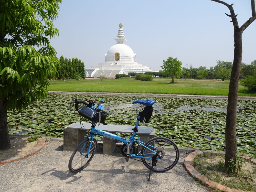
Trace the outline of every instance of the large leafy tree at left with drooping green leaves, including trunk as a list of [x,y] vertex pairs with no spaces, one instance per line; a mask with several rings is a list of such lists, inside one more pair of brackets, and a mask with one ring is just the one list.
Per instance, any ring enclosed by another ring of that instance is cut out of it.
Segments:
[[[7,110],[24,109],[48,94],[59,63],[49,38],[61,0],[0,1],[0,149],[10,147]],[[38,47],[36,49],[35,47]]]

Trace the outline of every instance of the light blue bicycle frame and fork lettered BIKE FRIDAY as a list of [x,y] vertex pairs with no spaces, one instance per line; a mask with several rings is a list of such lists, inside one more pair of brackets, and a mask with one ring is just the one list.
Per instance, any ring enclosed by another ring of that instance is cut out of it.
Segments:
[[[142,111],[142,108],[143,108],[143,107],[141,107],[141,111]],[[138,124],[139,124],[139,122],[140,122],[139,119],[140,119],[140,115],[138,115],[135,128],[138,127]],[[125,143],[125,144],[127,144],[129,141],[130,141],[131,145],[132,145],[134,142],[136,142],[138,145],[143,146],[143,147],[147,148],[148,150],[152,151],[152,153],[146,153],[146,154],[142,154],[142,155],[155,155],[155,154],[156,154],[155,151],[153,151],[153,150],[151,150],[150,148],[146,147],[146,146],[144,145],[144,144],[145,144],[144,142],[141,142],[141,141],[138,142],[138,140],[135,139],[135,135],[136,135],[136,132],[135,132],[135,131],[133,131],[133,134],[132,134],[132,136],[130,137],[130,139],[127,139],[127,138],[123,138],[123,137],[120,137],[120,136],[118,136],[118,135],[115,135],[115,134],[106,132],[106,131],[102,131],[102,130],[100,130],[100,129],[96,129],[95,126],[96,126],[96,123],[92,123],[91,129],[90,129],[90,134],[88,134],[88,137],[91,137],[91,143],[90,143],[90,146],[89,146],[89,150],[88,150],[87,156],[89,156],[89,152],[90,152],[90,150],[91,150],[91,145],[92,145],[92,140],[93,140],[93,134],[102,135],[102,136],[104,136],[104,137],[108,137],[108,138],[110,138],[110,139],[114,139],[114,140],[120,141],[120,142]],[[84,144],[84,145],[85,145],[85,144]],[[155,148],[155,149],[157,150],[157,148],[154,147],[154,146],[151,146],[151,145],[150,145],[150,147],[153,147],[153,148]],[[83,151],[83,149],[84,149],[84,146],[82,147],[81,152]],[[140,153],[138,153],[138,154],[140,154]],[[84,155],[84,154],[83,154],[83,155]],[[138,158],[152,159],[152,157],[144,157],[144,156],[140,156],[140,155],[131,154],[130,151],[129,151],[129,157],[138,157]],[[159,157],[157,158],[157,160],[158,160],[158,159],[159,159]]]

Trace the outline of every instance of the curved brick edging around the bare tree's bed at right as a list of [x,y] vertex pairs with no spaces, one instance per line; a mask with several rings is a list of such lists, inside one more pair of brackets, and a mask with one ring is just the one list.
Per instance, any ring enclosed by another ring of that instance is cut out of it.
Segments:
[[[202,151],[194,151],[190,154],[188,154],[188,156],[185,158],[184,160],[184,166],[187,170],[187,172],[189,173],[189,175],[191,175],[192,177],[194,177],[197,180],[200,180],[202,182],[203,185],[206,185],[208,187],[213,187],[216,189],[219,189],[220,191],[228,191],[228,192],[244,192],[243,190],[240,189],[234,189],[234,188],[229,188],[225,185],[221,185],[218,184],[216,182],[213,182],[209,179],[207,179],[204,175],[201,175],[193,166],[193,159],[197,156],[202,154]],[[256,159],[252,159],[253,163],[256,162]],[[246,191],[246,192],[254,192],[254,191]]]

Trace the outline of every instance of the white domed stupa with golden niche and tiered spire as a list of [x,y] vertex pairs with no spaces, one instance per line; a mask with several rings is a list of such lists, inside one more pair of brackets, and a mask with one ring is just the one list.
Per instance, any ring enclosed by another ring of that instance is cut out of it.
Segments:
[[128,74],[129,72],[159,72],[159,70],[150,69],[136,62],[136,54],[124,44],[126,39],[122,27],[123,25],[120,23],[115,38],[116,44],[110,47],[105,54],[105,62],[92,66],[92,69],[85,69],[89,74],[91,72],[91,77],[115,77],[116,74]]

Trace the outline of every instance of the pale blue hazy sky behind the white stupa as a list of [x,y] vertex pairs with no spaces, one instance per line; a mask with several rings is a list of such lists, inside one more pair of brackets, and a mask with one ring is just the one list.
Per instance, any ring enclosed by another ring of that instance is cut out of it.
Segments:
[[[225,0],[232,4],[241,27],[251,16],[250,0]],[[161,69],[163,60],[177,57],[183,67],[233,62],[233,24],[229,9],[208,0],[169,1],[63,1],[54,25],[60,34],[51,39],[58,57],[77,57],[85,68],[104,62],[116,43],[119,23],[136,53],[136,61]],[[242,35],[242,62],[256,59],[256,21]]]

